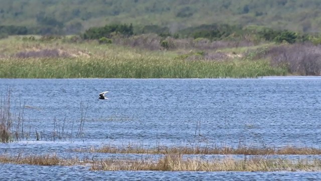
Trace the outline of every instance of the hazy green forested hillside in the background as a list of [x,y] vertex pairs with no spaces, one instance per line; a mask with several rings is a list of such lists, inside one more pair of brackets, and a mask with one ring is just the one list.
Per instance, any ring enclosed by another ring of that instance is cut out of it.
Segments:
[[171,33],[213,23],[317,32],[320,9],[317,0],[15,0],[0,1],[0,26],[26,26],[36,34],[75,34],[112,23],[132,23],[135,31],[158,25]]

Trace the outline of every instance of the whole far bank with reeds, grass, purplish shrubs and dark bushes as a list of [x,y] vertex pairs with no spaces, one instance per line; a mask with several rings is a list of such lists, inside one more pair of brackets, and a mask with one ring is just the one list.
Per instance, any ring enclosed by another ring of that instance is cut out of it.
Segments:
[[[200,26],[182,34],[134,35],[106,25],[80,36],[0,40],[2,78],[220,78],[319,75],[316,36],[268,28]],[[181,37],[181,38],[180,38]]]

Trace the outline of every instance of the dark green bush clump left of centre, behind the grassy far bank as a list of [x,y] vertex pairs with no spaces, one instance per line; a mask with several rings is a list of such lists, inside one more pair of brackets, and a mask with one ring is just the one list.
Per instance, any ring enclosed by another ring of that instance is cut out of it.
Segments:
[[86,30],[83,34],[83,39],[99,39],[101,37],[110,37],[111,33],[120,33],[124,36],[133,35],[133,27],[132,24],[129,26],[126,24],[118,25],[106,25],[104,27],[93,27]]

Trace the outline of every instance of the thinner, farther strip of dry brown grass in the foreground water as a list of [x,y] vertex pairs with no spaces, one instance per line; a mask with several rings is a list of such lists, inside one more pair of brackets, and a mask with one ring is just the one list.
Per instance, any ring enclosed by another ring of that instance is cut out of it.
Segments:
[[242,154],[242,155],[321,155],[321,149],[317,148],[248,148],[248,147],[188,147],[188,146],[157,146],[155,148],[144,148],[140,146],[113,147],[109,145],[100,148],[76,148],[76,152],[90,153],[133,153],[133,154]]

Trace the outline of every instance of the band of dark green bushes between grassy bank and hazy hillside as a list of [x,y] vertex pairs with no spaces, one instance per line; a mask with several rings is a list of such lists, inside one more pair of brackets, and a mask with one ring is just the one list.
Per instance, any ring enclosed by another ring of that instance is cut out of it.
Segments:
[[[50,29],[50,28],[48,28]],[[0,38],[8,35],[27,35],[27,34],[51,34],[60,35],[58,29],[45,31],[46,28],[27,28],[25,26],[0,26]],[[50,33],[45,33],[50,32]],[[53,33],[55,32],[55,33]],[[246,26],[228,25],[228,24],[212,24],[191,27],[171,33],[168,27],[157,25],[148,25],[135,27],[130,24],[111,24],[103,27],[92,27],[80,34],[84,40],[111,38],[115,35],[129,37],[133,35],[141,35],[146,33],[155,33],[161,37],[178,38],[206,38],[209,40],[244,40],[250,41],[275,41],[287,43],[304,42],[316,37],[312,34],[298,33],[289,30],[273,30],[264,26]]]

